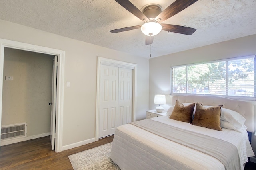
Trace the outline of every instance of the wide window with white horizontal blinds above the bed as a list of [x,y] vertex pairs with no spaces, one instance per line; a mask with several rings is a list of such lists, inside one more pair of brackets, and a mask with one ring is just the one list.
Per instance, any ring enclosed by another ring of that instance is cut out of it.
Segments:
[[256,97],[255,56],[171,68],[171,94]]

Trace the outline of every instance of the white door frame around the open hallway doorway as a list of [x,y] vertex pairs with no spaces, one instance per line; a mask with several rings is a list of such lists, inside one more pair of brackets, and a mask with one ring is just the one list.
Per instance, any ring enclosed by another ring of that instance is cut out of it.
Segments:
[[55,152],[62,151],[62,131],[63,131],[63,103],[64,103],[64,61],[65,51],[12,41],[8,39],[0,39],[0,126],[2,123],[2,91],[3,91],[3,72],[4,72],[4,48],[20,49],[24,51],[32,51],[36,53],[44,53],[58,56],[58,75],[56,90],[56,143]]

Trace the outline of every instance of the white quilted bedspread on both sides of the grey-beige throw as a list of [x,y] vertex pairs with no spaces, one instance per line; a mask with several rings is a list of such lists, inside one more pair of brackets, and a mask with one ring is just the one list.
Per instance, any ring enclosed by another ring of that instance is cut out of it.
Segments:
[[[248,141],[248,133],[238,133],[223,128],[216,131],[190,123],[169,119],[168,116],[155,117],[159,121],[188,131],[201,133],[205,137],[214,137],[235,145],[240,159],[240,167],[254,156]],[[182,144],[175,143],[164,137],[150,133],[132,124],[116,128],[112,143],[111,159],[122,169],[218,169],[225,170],[222,162],[208,154],[199,152]]]

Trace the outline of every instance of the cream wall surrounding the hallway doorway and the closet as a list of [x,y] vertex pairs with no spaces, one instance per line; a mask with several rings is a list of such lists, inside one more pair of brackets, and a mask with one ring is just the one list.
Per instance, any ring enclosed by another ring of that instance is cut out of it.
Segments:
[[[64,29],[64,28],[60,28]],[[63,146],[95,137],[97,56],[138,66],[137,120],[148,109],[149,60],[0,20],[0,38],[65,51]]]

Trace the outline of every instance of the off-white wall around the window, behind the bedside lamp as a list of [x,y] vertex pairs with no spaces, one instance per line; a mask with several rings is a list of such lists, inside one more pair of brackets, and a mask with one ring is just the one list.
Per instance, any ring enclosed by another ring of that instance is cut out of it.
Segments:
[[[256,35],[250,35],[224,41],[204,47],[190,49],[179,53],[164,55],[150,59],[149,77],[149,109],[154,109],[155,94],[166,95],[165,109],[170,107],[170,68],[184,64],[201,63],[203,61],[214,61],[232,57],[256,55]],[[168,104],[169,103],[169,104]],[[254,102],[256,104],[256,102]],[[256,129],[256,107],[254,106],[254,127]],[[255,152],[256,136],[252,136],[252,148]]]

